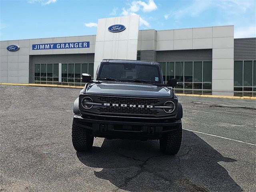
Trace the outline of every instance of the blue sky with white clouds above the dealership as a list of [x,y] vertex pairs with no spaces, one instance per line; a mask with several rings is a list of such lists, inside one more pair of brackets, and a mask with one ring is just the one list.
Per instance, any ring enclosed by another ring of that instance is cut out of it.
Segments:
[[234,25],[256,37],[256,0],[0,0],[0,40],[94,35],[99,18],[140,15],[140,30]]

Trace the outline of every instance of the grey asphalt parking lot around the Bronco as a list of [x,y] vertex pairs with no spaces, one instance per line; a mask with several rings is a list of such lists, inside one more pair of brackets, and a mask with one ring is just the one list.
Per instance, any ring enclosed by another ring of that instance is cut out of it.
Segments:
[[158,141],[72,146],[78,89],[0,85],[0,191],[256,191],[256,100],[179,96],[176,156]]

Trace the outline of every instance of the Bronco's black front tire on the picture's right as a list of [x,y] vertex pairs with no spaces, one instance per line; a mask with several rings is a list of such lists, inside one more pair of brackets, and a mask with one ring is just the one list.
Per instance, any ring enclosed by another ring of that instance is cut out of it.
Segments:
[[182,127],[178,130],[164,134],[160,139],[160,150],[167,155],[175,155],[180,150],[182,140]]

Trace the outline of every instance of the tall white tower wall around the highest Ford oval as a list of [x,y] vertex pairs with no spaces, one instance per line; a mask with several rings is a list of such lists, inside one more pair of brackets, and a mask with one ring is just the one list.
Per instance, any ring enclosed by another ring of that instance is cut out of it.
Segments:
[[[138,45],[139,15],[104,18],[98,20],[94,77],[102,59],[130,59],[136,60]],[[122,24],[126,29],[122,32],[110,32],[108,27]]]

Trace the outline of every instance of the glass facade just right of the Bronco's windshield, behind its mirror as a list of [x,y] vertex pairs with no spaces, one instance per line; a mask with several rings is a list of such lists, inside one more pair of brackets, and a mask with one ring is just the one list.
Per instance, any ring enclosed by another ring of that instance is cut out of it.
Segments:
[[212,62],[159,62],[164,82],[176,78],[176,93],[212,94]]

